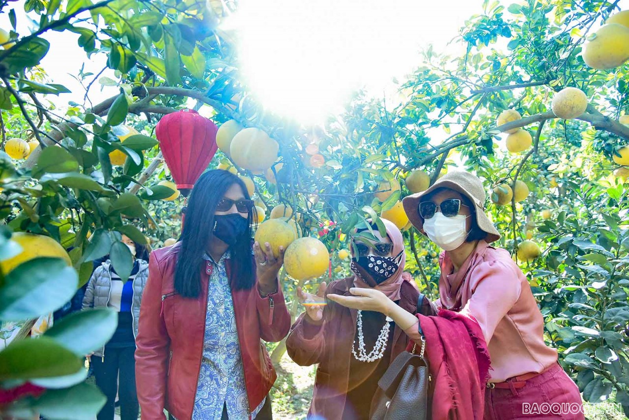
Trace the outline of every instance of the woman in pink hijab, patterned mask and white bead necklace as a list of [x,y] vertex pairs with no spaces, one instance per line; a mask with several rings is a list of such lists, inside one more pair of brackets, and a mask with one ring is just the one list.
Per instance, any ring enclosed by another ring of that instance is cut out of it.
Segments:
[[[350,288],[378,290],[392,305],[415,314],[418,289],[404,273],[404,241],[399,229],[382,219],[386,236],[376,227],[352,237],[353,276],[321,283],[317,295],[298,289],[306,312],[291,328],[286,348],[298,365],[318,363],[309,418],[367,419],[377,382],[408,345],[409,338],[389,317],[370,310],[353,310],[330,302],[325,295],[348,295]],[[364,233],[365,232],[365,233]],[[362,235],[359,235],[362,234]]]

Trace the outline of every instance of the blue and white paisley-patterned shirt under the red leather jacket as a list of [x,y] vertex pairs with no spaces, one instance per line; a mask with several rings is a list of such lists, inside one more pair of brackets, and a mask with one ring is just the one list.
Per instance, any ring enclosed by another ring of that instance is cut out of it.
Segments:
[[[203,360],[199,372],[192,419],[220,420],[223,405],[230,420],[249,418],[249,402],[245,389],[245,372],[240,356],[240,343],[231,288],[225,270],[228,253],[218,263],[206,254],[204,259],[213,263],[209,276],[208,310],[203,339]],[[252,413],[254,419],[265,400]]]

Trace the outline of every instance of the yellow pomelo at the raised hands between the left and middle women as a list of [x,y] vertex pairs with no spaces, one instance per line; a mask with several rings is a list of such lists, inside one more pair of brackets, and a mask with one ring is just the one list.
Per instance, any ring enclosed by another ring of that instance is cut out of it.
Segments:
[[296,239],[284,254],[284,269],[296,280],[307,280],[325,274],[330,266],[330,253],[323,242],[313,237]]

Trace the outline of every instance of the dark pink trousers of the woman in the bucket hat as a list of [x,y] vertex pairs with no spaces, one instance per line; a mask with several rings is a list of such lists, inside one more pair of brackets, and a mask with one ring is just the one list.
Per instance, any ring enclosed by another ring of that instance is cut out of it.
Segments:
[[584,420],[581,394],[559,363],[520,389],[486,389],[485,420]]

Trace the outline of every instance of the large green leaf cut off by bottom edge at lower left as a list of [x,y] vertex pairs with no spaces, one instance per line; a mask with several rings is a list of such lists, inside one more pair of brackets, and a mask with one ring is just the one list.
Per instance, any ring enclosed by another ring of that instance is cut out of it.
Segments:
[[107,398],[91,383],[78,383],[69,389],[47,390],[35,408],[50,420],[84,420],[96,417]]

